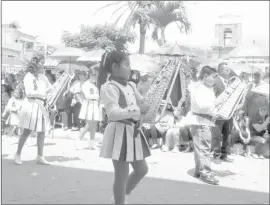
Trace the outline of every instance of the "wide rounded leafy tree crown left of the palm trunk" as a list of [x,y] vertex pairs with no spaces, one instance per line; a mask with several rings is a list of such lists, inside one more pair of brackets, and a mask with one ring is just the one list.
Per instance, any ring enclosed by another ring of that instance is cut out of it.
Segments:
[[127,51],[126,44],[134,43],[135,35],[114,25],[82,25],[79,33],[64,31],[62,42],[67,47],[81,48],[85,51],[95,49],[117,49]]

